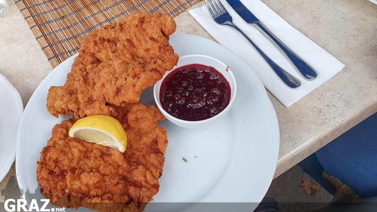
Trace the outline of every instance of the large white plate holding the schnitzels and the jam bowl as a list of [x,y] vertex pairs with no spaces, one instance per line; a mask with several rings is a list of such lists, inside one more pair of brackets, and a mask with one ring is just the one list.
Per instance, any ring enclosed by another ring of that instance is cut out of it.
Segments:
[[[259,203],[270,186],[279,153],[277,117],[263,84],[244,61],[218,43],[175,33],[170,36],[170,44],[180,56],[203,54],[223,61],[233,70],[239,90],[231,111],[209,129],[186,129],[167,120],[161,122],[168,131],[169,145],[154,202]],[[36,192],[26,195],[27,200],[41,198],[35,162],[51,137],[52,127],[68,118],[54,118],[48,113],[48,89],[64,84],[75,56],[57,66],[42,81],[22,116],[17,143],[17,180],[22,194],[26,190]],[[152,91],[153,88],[146,89],[141,101],[154,104]],[[153,206],[156,204],[149,204],[146,210],[152,211]]]

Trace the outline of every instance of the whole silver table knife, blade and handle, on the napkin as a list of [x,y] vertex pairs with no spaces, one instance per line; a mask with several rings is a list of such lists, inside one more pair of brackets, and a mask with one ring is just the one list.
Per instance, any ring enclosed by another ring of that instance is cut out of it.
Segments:
[[250,12],[239,0],[227,0],[229,5],[245,20],[246,23],[254,25],[288,58],[294,68],[307,80],[314,80],[318,76],[316,70],[305,62],[299,55],[294,53],[279,38],[277,38],[255,15]]

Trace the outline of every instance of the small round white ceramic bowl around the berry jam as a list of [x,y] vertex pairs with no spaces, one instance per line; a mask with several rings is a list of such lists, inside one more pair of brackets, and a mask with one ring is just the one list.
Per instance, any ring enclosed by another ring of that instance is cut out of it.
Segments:
[[[165,79],[165,77],[170,72],[174,71],[176,68],[179,68],[185,65],[190,65],[190,64],[201,64],[201,65],[211,66],[215,68],[225,77],[225,79],[229,82],[229,85],[230,85],[230,101],[227,107],[223,111],[221,111],[219,114],[211,118],[201,120],[201,121],[186,121],[186,120],[181,120],[179,118],[173,117],[162,108],[160,97],[159,97],[161,83]],[[157,83],[153,87],[153,95],[155,97],[155,101],[158,106],[158,109],[169,121],[184,128],[196,128],[196,129],[204,128],[204,127],[210,126],[211,123],[213,123],[215,120],[219,121],[221,117],[224,117],[230,111],[230,108],[233,105],[234,99],[236,98],[237,83],[236,83],[236,78],[234,78],[232,71],[223,62],[219,61],[216,58],[206,56],[206,55],[199,55],[199,54],[185,55],[179,58],[178,64],[173,68],[172,71],[167,71],[162,77],[162,79],[157,81]]]

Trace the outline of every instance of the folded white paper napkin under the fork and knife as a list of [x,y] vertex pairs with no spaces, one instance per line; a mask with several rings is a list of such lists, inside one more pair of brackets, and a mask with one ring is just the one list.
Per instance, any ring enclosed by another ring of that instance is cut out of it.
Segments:
[[301,81],[299,88],[291,89],[286,86],[239,32],[230,27],[216,24],[205,5],[189,12],[221,45],[241,57],[256,72],[264,86],[284,106],[291,106],[344,68],[343,63],[285,22],[260,0],[241,0],[285,45],[316,69],[318,77],[312,81],[305,80],[279,49],[261,32],[239,17],[225,0],[221,2],[232,16],[234,24],[241,28],[273,61]]

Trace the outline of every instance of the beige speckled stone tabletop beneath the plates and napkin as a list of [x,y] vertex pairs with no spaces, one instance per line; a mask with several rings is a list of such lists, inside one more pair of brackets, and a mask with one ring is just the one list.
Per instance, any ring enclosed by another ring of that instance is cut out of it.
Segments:
[[[280,126],[277,177],[377,112],[377,5],[368,0],[263,2],[346,65],[342,72],[289,108],[268,92]],[[26,105],[52,66],[14,1],[8,3],[0,17],[0,73],[18,89]],[[213,40],[188,12],[175,20],[177,31]],[[16,184],[9,180],[14,175],[12,166],[0,183],[0,191],[8,181]]]

